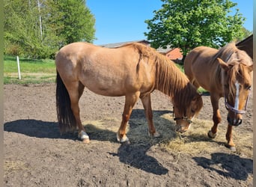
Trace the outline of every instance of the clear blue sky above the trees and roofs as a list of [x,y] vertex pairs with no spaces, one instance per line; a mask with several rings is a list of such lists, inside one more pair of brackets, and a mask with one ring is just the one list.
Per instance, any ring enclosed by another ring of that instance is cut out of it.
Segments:
[[[231,0],[246,17],[244,27],[253,30],[253,0]],[[95,45],[147,40],[146,19],[152,19],[153,10],[162,6],[160,0],[86,0],[96,19]]]

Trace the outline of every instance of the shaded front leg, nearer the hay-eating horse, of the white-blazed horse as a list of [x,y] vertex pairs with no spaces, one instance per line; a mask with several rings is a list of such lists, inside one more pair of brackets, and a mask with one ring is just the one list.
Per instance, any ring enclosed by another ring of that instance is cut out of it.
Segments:
[[219,112],[219,96],[211,95],[210,101],[213,105],[213,126],[212,129],[210,129],[210,131],[208,132],[208,136],[210,138],[215,138],[217,135],[218,125],[222,120],[221,114]]

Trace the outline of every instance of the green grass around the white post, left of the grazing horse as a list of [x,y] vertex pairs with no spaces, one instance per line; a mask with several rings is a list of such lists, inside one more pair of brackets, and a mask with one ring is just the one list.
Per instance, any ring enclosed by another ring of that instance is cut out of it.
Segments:
[[56,70],[53,60],[19,58],[19,79],[16,57],[4,56],[4,84],[36,84],[55,82]]

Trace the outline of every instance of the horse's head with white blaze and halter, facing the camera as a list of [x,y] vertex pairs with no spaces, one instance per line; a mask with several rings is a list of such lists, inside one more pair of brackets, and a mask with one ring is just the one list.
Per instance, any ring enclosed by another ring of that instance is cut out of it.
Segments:
[[[228,109],[228,123],[238,126],[242,123],[242,114],[246,113],[246,104],[252,86],[253,65],[243,61],[225,63],[217,58],[222,68],[225,106]],[[252,60],[251,60],[252,61]]]

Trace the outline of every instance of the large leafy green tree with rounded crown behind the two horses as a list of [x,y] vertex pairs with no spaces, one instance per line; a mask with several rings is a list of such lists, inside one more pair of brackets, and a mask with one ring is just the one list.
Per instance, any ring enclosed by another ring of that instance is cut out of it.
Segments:
[[196,46],[219,48],[243,37],[245,18],[229,0],[162,0],[162,8],[147,19],[147,40],[155,48],[179,47],[186,55]]

